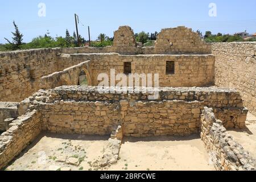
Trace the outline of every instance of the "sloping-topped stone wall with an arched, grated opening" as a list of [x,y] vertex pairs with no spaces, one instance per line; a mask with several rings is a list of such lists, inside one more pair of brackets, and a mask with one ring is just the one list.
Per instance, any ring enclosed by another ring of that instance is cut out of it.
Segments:
[[[81,70],[84,70],[87,73],[89,73],[89,65],[90,61],[84,61],[80,64],[74,65],[73,67],[64,69],[61,72],[55,72],[51,75],[44,76],[40,78],[40,87],[41,89],[52,89],[62,85],[77,85],[79,82],[79,74]],[[90,75],[87,74],[88,84],[90,85],[91,79],[89,76]]]

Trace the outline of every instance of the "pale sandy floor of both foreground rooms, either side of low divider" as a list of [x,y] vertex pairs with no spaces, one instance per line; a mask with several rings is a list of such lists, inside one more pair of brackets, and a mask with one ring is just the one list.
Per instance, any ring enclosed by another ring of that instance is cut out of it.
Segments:
[[[77,171],[93,167],[108,136],[41,134],[6,170]],[[72,158],[74,164],[67,163]],[[69,161],[69,160],[68,160]],[[106,170],[214,170],[198,135],[125,138],[117,164]]]

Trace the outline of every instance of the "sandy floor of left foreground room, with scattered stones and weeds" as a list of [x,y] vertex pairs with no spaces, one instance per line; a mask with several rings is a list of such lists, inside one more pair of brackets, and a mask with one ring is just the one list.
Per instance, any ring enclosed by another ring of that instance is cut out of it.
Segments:
[[[48,171],[57,168],[61,171],[62,167],[72,171],[92,170],[90,164],[102,156],[108,139],[109,136],[41,134],[6,170]],[[65,163],[65,159],[71,157],[80,160],[78,166]]]

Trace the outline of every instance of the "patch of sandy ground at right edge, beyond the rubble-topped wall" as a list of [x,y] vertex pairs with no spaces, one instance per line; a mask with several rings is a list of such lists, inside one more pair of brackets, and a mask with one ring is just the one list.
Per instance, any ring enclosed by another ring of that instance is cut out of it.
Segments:
[[246,127],[243,130],[230,129],[229,133],[256,159],[256,117],[250,113],[247,115]]

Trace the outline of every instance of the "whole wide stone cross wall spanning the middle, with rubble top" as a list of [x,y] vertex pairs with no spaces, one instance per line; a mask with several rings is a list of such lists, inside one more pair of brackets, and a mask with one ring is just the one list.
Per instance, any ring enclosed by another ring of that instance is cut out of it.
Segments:
[[53,133],[106,135],[121,125],[125,136],[189,135],[199,132],[205,105],[227,115],[233,114],[226,112],[230,108],[237,111],[237,118],[224,118],[226,127],[230,127],[229,123],[245,125],[241,115],[247,113],[241,112],[241,98],[233,90],[160,88],[155,101],[148,100],[148,93],[101,93],[95,87],[61,86],[40,90],[29,98],[27,108],[39,110],[43,130]]

